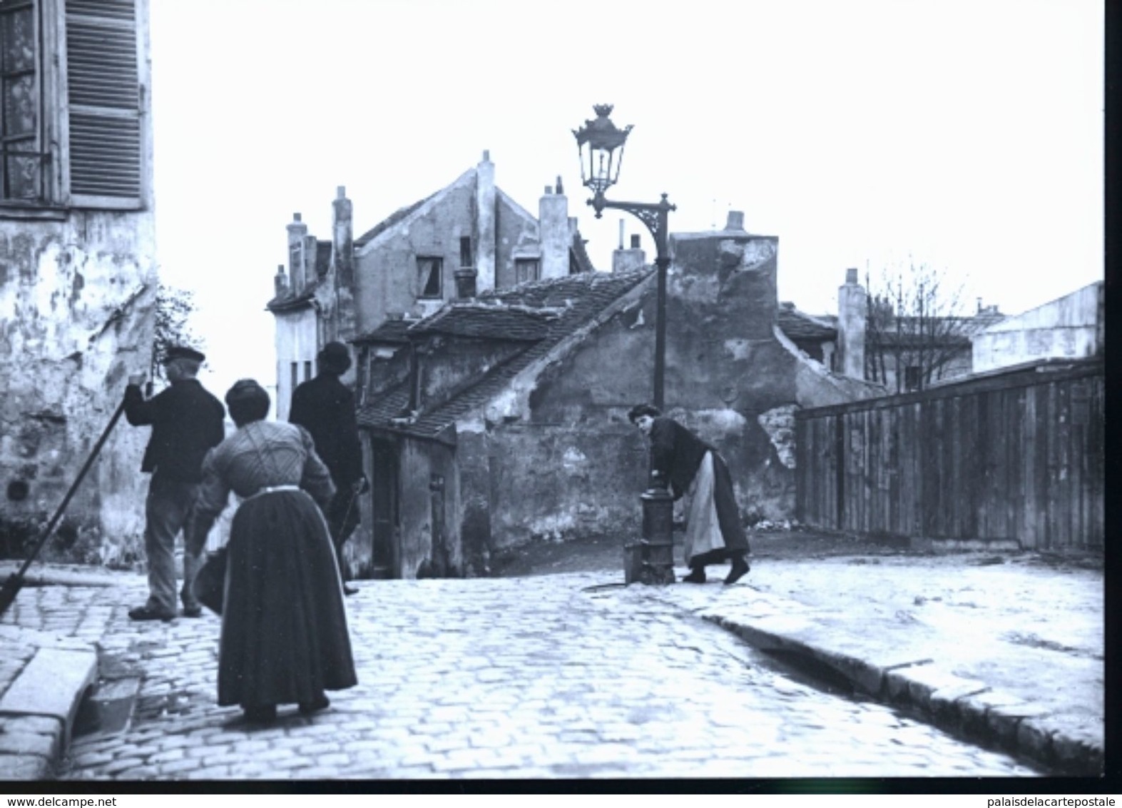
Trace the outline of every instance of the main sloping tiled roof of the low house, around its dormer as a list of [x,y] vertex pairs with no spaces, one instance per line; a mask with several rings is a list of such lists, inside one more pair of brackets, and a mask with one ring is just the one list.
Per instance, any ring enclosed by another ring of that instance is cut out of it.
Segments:
[[[496,305],[489,315],[496,319],[507,316],[509,306],[560,309],[555,316],[548,319],[545,334],[506,362],[491,368],[479,380],[461,391],[447,402],[420,413],[410,424],[395,425],[390,419],[399,415],[408,406],[408,385],[390,389],[358,413],[361,426],[392,429],[406,434],[435,438],[458,417],[498,395],[519,371],[533,361],[546,356],[565,337],[615,303],[619,297],[651,276],[651,269],[628,273],[581,273],[551,281],[532,281],[504,290],[488,290],[479,295],[480,302]],[[433,315],[435,318],[436,315]],[[429,320],[432,320],[430,318]],[[422,321],[417,325],[424,325]]]

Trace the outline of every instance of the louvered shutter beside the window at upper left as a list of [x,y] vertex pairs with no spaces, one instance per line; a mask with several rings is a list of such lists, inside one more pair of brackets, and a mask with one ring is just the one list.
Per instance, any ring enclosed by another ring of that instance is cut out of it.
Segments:
[[75,206],[142,204],[138,65],[136,0],[66,0],[70,190]]

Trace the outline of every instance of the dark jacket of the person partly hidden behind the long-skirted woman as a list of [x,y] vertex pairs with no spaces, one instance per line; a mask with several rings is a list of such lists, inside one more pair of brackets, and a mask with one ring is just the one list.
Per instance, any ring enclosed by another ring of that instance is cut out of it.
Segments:
[[306,429],[315,441],[331,481],[340,492],[362,477],[362,449],[355,421],[355,395],[339,377],[321,373],[296,386],[288,421]]

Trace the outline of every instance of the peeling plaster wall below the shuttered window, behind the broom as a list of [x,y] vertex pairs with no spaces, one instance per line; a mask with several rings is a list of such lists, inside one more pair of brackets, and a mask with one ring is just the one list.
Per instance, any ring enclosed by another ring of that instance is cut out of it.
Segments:
[[[0,222],[0,551],[34,541],[149,370],[156,285],[150,212]],[[120,420],[43,558],[142,558],[147,438]]]

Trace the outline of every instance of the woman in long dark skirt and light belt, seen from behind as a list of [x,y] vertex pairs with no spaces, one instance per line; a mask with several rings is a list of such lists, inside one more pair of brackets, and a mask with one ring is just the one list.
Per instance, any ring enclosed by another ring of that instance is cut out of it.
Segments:
[[342,580],[322,507],[334,486],[301,426],[265,421],[269,395],[242,379],[226,395],[238,430],[203,461],[187,549],[201,553],[232,490],[242,498],[230,525],[218,703],[250,720],[277,705],[311,714],[325,690],[358,683]]

